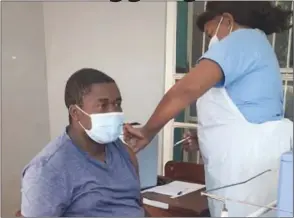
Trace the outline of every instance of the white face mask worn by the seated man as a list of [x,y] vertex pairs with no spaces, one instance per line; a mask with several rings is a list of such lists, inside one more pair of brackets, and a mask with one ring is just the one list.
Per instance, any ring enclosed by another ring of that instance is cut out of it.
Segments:
[[113,142],[123,134],[124,114],[122,112],[88,114],[79,106],[76,107],[91,119],[91,129],[86,129],[80,122],[87,135],[99,144]]

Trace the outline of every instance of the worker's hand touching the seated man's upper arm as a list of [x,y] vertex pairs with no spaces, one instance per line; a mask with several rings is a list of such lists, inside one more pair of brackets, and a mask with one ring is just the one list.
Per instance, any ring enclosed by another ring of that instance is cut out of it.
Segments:
[[124,141],[135,153],[144,149],[152,140],[151,136],[144,127],[134,128],[129,124],[124,125]]

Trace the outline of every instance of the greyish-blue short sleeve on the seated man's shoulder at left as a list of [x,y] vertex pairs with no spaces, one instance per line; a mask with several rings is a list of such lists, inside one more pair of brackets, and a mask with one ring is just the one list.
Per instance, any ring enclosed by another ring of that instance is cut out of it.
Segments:
[[21,213],[24,217],[62,216],[68,194],[61,174],[48,167],[29,167],[23,174]]

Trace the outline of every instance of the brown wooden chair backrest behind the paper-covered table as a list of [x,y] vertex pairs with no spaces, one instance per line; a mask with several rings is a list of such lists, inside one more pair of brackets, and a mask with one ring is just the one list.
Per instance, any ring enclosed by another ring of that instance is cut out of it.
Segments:
[[169,161],[165,164],[164,176],[173,180],[205,184],[202,164]]

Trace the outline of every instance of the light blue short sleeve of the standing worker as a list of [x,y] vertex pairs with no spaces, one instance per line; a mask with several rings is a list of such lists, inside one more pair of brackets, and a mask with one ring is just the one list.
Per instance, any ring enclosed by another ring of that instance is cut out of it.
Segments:
[[[240,34],[231,33],[225,39],[211,46],[210,49],[199,59],[214,61],[222,69],[224,78],[217,86],[228,86],[248,72],[248,67],[254,61],[250,46],[246,47],[246,40],[242,43]],[[241,42],[240,42],[241,41]]]

